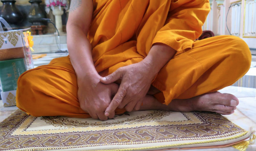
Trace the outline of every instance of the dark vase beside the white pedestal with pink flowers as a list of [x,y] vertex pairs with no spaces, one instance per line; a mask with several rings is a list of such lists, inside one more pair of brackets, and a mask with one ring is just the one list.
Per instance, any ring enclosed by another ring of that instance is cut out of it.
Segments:
[[28,15],[28,21],[33,25],[44,25],[42,18],[46,18],[46,12],[41,8],[41,0],[30,0],[31,8]]

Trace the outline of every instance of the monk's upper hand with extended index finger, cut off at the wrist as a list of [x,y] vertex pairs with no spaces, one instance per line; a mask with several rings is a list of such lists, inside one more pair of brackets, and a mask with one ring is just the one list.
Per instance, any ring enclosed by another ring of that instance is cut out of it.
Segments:
[[143,98],[146,96],[151,81],[156,76],[151,66],[144,61],[118,68],[109,76],[102,77],[100,81],[110,84],[122,79],[117,94],[105,111],[108,116],[117,107],[125,108],[127,111],[139,110]]

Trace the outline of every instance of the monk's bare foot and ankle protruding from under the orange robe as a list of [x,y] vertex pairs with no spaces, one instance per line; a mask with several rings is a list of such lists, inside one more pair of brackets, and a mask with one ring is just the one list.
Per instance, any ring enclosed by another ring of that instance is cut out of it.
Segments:
[[239,100],[232,94],[211,92],[190,99],[174,99],[166,106],[151,95],[143,100],[140,110],[169,110],[180,112],[210,111],[219,114],[232,114],[239,104]]

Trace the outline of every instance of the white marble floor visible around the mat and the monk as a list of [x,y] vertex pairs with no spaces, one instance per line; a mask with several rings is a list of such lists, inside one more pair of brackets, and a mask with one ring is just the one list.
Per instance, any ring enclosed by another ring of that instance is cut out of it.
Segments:
[[[67,56],[67,53],[48,54],[46,57],[34,60],[35,66],[48,64],[53,58]],[[238,97],[240,103],[237,110],[232,115],[225,115],[229,120],[238,126],[249,130],[250,127],[256,130],[256,56],[253,56],[253,61],[248,73],[232,86],[226,87],[220,92],[231,93]],[[249,81],[246,76],[250,76]],[[247,79],[246,79],[247,78]],[[240,83],[239,83],[240,82]],[[247,82],[247,85],[243,85]],[[241,84],[242,83],[242,84]],[[240,84],[240,85],[239,85]],[[251,85],[251,86],[250,86]],[[254,85],[254,86],[252,86]],[[0,122],[7,118],[17,107],[3,107],[2,100],[0,100]],[[233,147],[212,148],[212,149],[190,149],[188,151],[237,151]],[[246,151],[256,151],[256,143],[250,144]]]

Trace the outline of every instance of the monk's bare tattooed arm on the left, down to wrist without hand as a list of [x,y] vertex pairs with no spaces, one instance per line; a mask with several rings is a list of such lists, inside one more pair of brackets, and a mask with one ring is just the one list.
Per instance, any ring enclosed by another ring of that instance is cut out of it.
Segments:
[[67,44],[77,78],[98,76],[92,59],[92,48],[87,38],[93,14],[92,0],[72,0],[67,23]]

